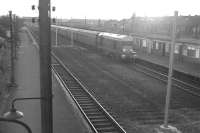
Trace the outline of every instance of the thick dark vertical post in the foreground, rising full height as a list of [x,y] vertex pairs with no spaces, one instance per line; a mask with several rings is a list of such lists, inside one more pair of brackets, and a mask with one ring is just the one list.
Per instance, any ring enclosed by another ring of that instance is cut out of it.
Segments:
[[51,12],[50,0],[39,0],[40,92],[42,133],[53,133],[51,81]]

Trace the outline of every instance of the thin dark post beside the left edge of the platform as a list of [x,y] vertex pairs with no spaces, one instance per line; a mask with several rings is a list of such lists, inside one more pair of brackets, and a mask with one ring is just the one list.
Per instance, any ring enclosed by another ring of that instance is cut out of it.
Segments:
[[12,20],[12,11],[9,11],[10,18],[10,59],[11,59],[11,76],[10,76],[10,86],[15,85],[15,66],[14,66],[14,38],[13,38],[13,20]]

